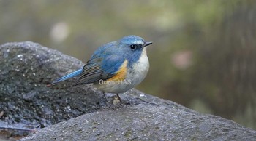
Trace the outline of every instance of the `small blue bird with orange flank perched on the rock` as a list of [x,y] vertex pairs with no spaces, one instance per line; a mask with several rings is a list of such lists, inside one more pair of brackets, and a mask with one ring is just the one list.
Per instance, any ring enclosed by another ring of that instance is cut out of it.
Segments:
[[152,42],[146,42],[139,36],[124,36],[118,41],[103,44],[91,59],[78,71],[58,78],[53,83],[80,76],[75,86],[91,84],[105,92],[115,93],[121,102],[118,93],[140,84],[146,77],[149,69],[146,47]]

